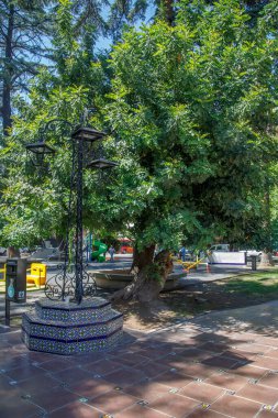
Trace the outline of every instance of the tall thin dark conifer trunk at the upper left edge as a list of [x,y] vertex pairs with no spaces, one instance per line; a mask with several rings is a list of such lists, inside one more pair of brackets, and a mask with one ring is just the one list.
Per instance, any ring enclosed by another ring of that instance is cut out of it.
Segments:
[[2,92],[2,118],[3,118],[3,133],[9,135],[9,129],[12,125],[11,119],[11,90],[12,90],[12,37],[14,29],[14,4],[10,3],[8,29],[5,36],[5,52],[4,52],[4,70],[3,70],[3,92]]

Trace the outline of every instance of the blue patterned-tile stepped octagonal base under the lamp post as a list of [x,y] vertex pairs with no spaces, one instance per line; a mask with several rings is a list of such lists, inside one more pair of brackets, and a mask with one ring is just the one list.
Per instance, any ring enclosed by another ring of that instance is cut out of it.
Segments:
[[30,350],[66,355],[112,349],[122,328],[122,314],[102,298],[80,305],[43,299],[22,317],[22,339]]

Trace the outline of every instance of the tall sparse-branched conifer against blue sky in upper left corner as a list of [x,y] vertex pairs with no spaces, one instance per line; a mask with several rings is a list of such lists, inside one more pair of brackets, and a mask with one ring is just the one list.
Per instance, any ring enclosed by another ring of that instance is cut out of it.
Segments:
[[16,91],[26,92],[26,80],[37,73],[45,55],[47,3],[45,0],[0,1],[1,117],[5,135],[12,123],[12,96]]

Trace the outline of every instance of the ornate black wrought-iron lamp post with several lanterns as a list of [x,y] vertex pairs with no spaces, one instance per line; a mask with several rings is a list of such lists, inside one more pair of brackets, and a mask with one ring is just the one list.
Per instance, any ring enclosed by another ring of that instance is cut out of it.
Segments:
[[[45,125],[43,132],[55,121],[55,119]],[[73,131],[71,139],[71,175],[70,175],[70,194],[68,202],[68,223],[67,223],[67,238],[65,245],[65,263],[62,271],[55,276],[47,279],[45,285],[45,295],[49,299],[65,300],[67,296],[71,297],[78,305],[81,302],[84,296],[93,296],[96,293],[96,283],[93,278],[84,268],[84,252],[82,252],[82,175],[84,168],[103,169],[111,168],[116,163],[103,158],[101,155],[96,156],[92,153],[93,143],[102,141],[105,136],[104,132],[97,131],[92,128],[78,128]],[[47,155],[53,155],[55,150],[45,143],[44,140],[34,144],[27,144],[26,151],[33,154],[32,162],[35,166],[42,166],[44,158]],[[92,154],[92,155],[91,155]],[[34,158],[35,157],[35,158]],[[93,157],[93,160],[89,160]],[[88,161],[89,160],[89,161]],[[69,271],[69,230],[75,220],[75,256],[74,256],[74,272]]]

